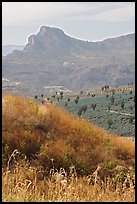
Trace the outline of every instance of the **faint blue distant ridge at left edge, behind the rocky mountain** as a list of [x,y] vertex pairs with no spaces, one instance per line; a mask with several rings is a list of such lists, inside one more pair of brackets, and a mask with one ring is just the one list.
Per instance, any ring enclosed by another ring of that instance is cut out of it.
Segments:
[[2,46],[2,55],[6,56],[11,53],[13,50],[23,50],[23,45],[3,45]]

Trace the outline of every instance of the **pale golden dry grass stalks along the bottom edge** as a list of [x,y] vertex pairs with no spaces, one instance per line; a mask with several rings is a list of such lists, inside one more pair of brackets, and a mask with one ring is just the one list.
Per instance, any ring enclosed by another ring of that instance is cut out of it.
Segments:
[[[75,168],[66,172],[54,167],[49,175],[41,179],[42,170],[30,166],[22,160],[16,162],[17,151],[14,151],[15,167],[10,170],[7,166],[2,173],[3,202],[134,202],[135,189],[131,182],[129,188],[122,188],[117,182],[112,190],[112,180],[100,184],[89,185],[85,176],[77,176]],[[40,174],[41,173],[41,174]],[[61,176],[63,175],[63,177]]]

